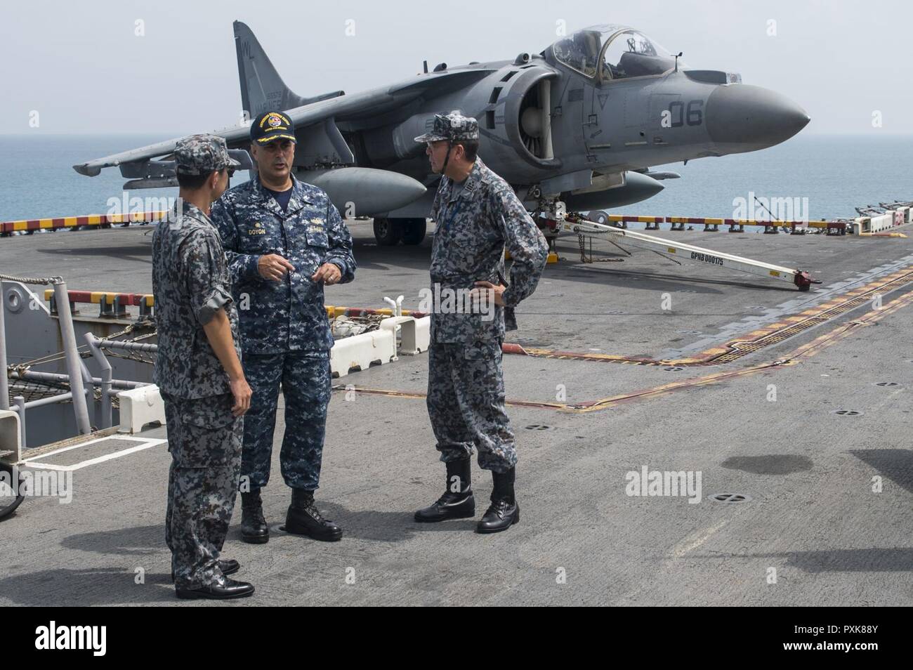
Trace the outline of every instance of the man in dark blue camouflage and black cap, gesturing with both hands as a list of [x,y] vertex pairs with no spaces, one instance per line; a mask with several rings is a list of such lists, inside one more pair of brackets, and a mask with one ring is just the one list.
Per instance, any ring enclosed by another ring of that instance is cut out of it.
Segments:
[[352,235],[327,194],[292,175],[295,128],[286,114],[260,114],[250,139],[257,175],[213,206],[241,309],[244,371],[254,391],[244,422],[241,537],[269,539],[260,491],[269,481],[281,386],[286,430],[279,462],[292,489],[285,529],[341,539],[342,530],[320,516],[314,491],[331,393],[333,338],[323,286],[355,277]]

